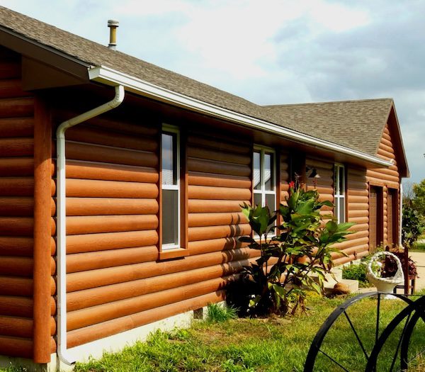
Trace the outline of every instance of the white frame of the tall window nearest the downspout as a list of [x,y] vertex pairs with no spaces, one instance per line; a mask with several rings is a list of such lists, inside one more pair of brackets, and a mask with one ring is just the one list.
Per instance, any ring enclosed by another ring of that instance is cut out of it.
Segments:
[[[164,185],[161,181],[161,198],[162,198],[162,190],[177,190],[177,243],[167,243],[162,244],[161,250],[167,251],[169,249],[179,249],[180,243],[181,243],[181,191],[180,191],[180,130],[175,125],[170,124],[162,124],[162,131],[161,135],[166,133],[172,133],[176,135],[176,184],[175,185]],[[161,146],[161,152],[162,152],[162,146]],[[161,161],[161,169],[162,169],[162,161]],[[161,211],[161,218],[163,219],[164,216],[162,215]],[[162,234],[162,231],[161,231]]]

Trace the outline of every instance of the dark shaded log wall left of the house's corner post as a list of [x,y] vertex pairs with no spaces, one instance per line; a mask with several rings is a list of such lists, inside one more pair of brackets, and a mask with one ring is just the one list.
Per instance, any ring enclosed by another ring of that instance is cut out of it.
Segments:
[[[21,57],[0,48],[0,355],[3,356],[33,357],[33,214],[34,98],[21,87]],[[54,314],[55,304],[51,305]],[[50,327],[51,334],[55,333],[54,321],[46,327]]]

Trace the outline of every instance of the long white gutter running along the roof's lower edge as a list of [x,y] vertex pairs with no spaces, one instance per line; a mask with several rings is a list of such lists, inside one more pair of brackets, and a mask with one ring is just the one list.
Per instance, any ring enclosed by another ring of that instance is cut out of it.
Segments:
[[89,79],[106,85],[120,84],[125,86],[127,90],[142,96],[148,96],[159,101],[172,103],[174,105],[187,108],[188,110],[210,115],[215,118],[229,120],[233,123],[242,124],[249,128],[259,129],[268,133],[287,137],[290,140],[303,142],[310,146],[320,147],[332,152],[339,152],[340,154],[346,154],[382,167],[390,167],[392,165],[392,162],[388,162],[387,160],[380,159],[378,157],[373,157],[369,154],[365,154],[364,152],[353,150],[326,140],[321,140],[319,138],[312,137],[311,135],[305,135],[304,133],[297,132],[296,130],[283,128],[280,125],[268,123],[267,121],[252,118],[248,115],[227,110],[226,108],[221,108],[219,106],[212,105],[211,103],[206,103],[196,98],[191,98],[189,96],[170,91],[169,89],[162,88],[161,86],[157,86],[142,79],[137,79],[136,77],[132,77],[109,67],[101,66],[90,68]]

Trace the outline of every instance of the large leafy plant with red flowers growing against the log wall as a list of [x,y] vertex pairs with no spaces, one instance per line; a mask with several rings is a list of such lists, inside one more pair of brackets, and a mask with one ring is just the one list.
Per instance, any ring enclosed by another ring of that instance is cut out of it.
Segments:
[[[332,207],[319,201],[317,190],[305,191],[296,181],[290,183],[289,196],[276,212],[267,206],[242,205],[242,212],[256,234],[240,237],[261,253],[256,263],[243,271],[246,313],[251,316],[270,313],[292,314],[305,311],[307,290],[322,293],[325,274],[332,266],[333,244],[345,239],[353,223],[324,223],[320,209]],[[277,230],[277,234],[275,234]]]

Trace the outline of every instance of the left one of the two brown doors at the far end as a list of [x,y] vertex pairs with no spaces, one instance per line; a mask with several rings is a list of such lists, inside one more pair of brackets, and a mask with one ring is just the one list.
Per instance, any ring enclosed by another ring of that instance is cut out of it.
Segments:
[[369,248],[382,244],[383,233],[382,187],[369,188]]

